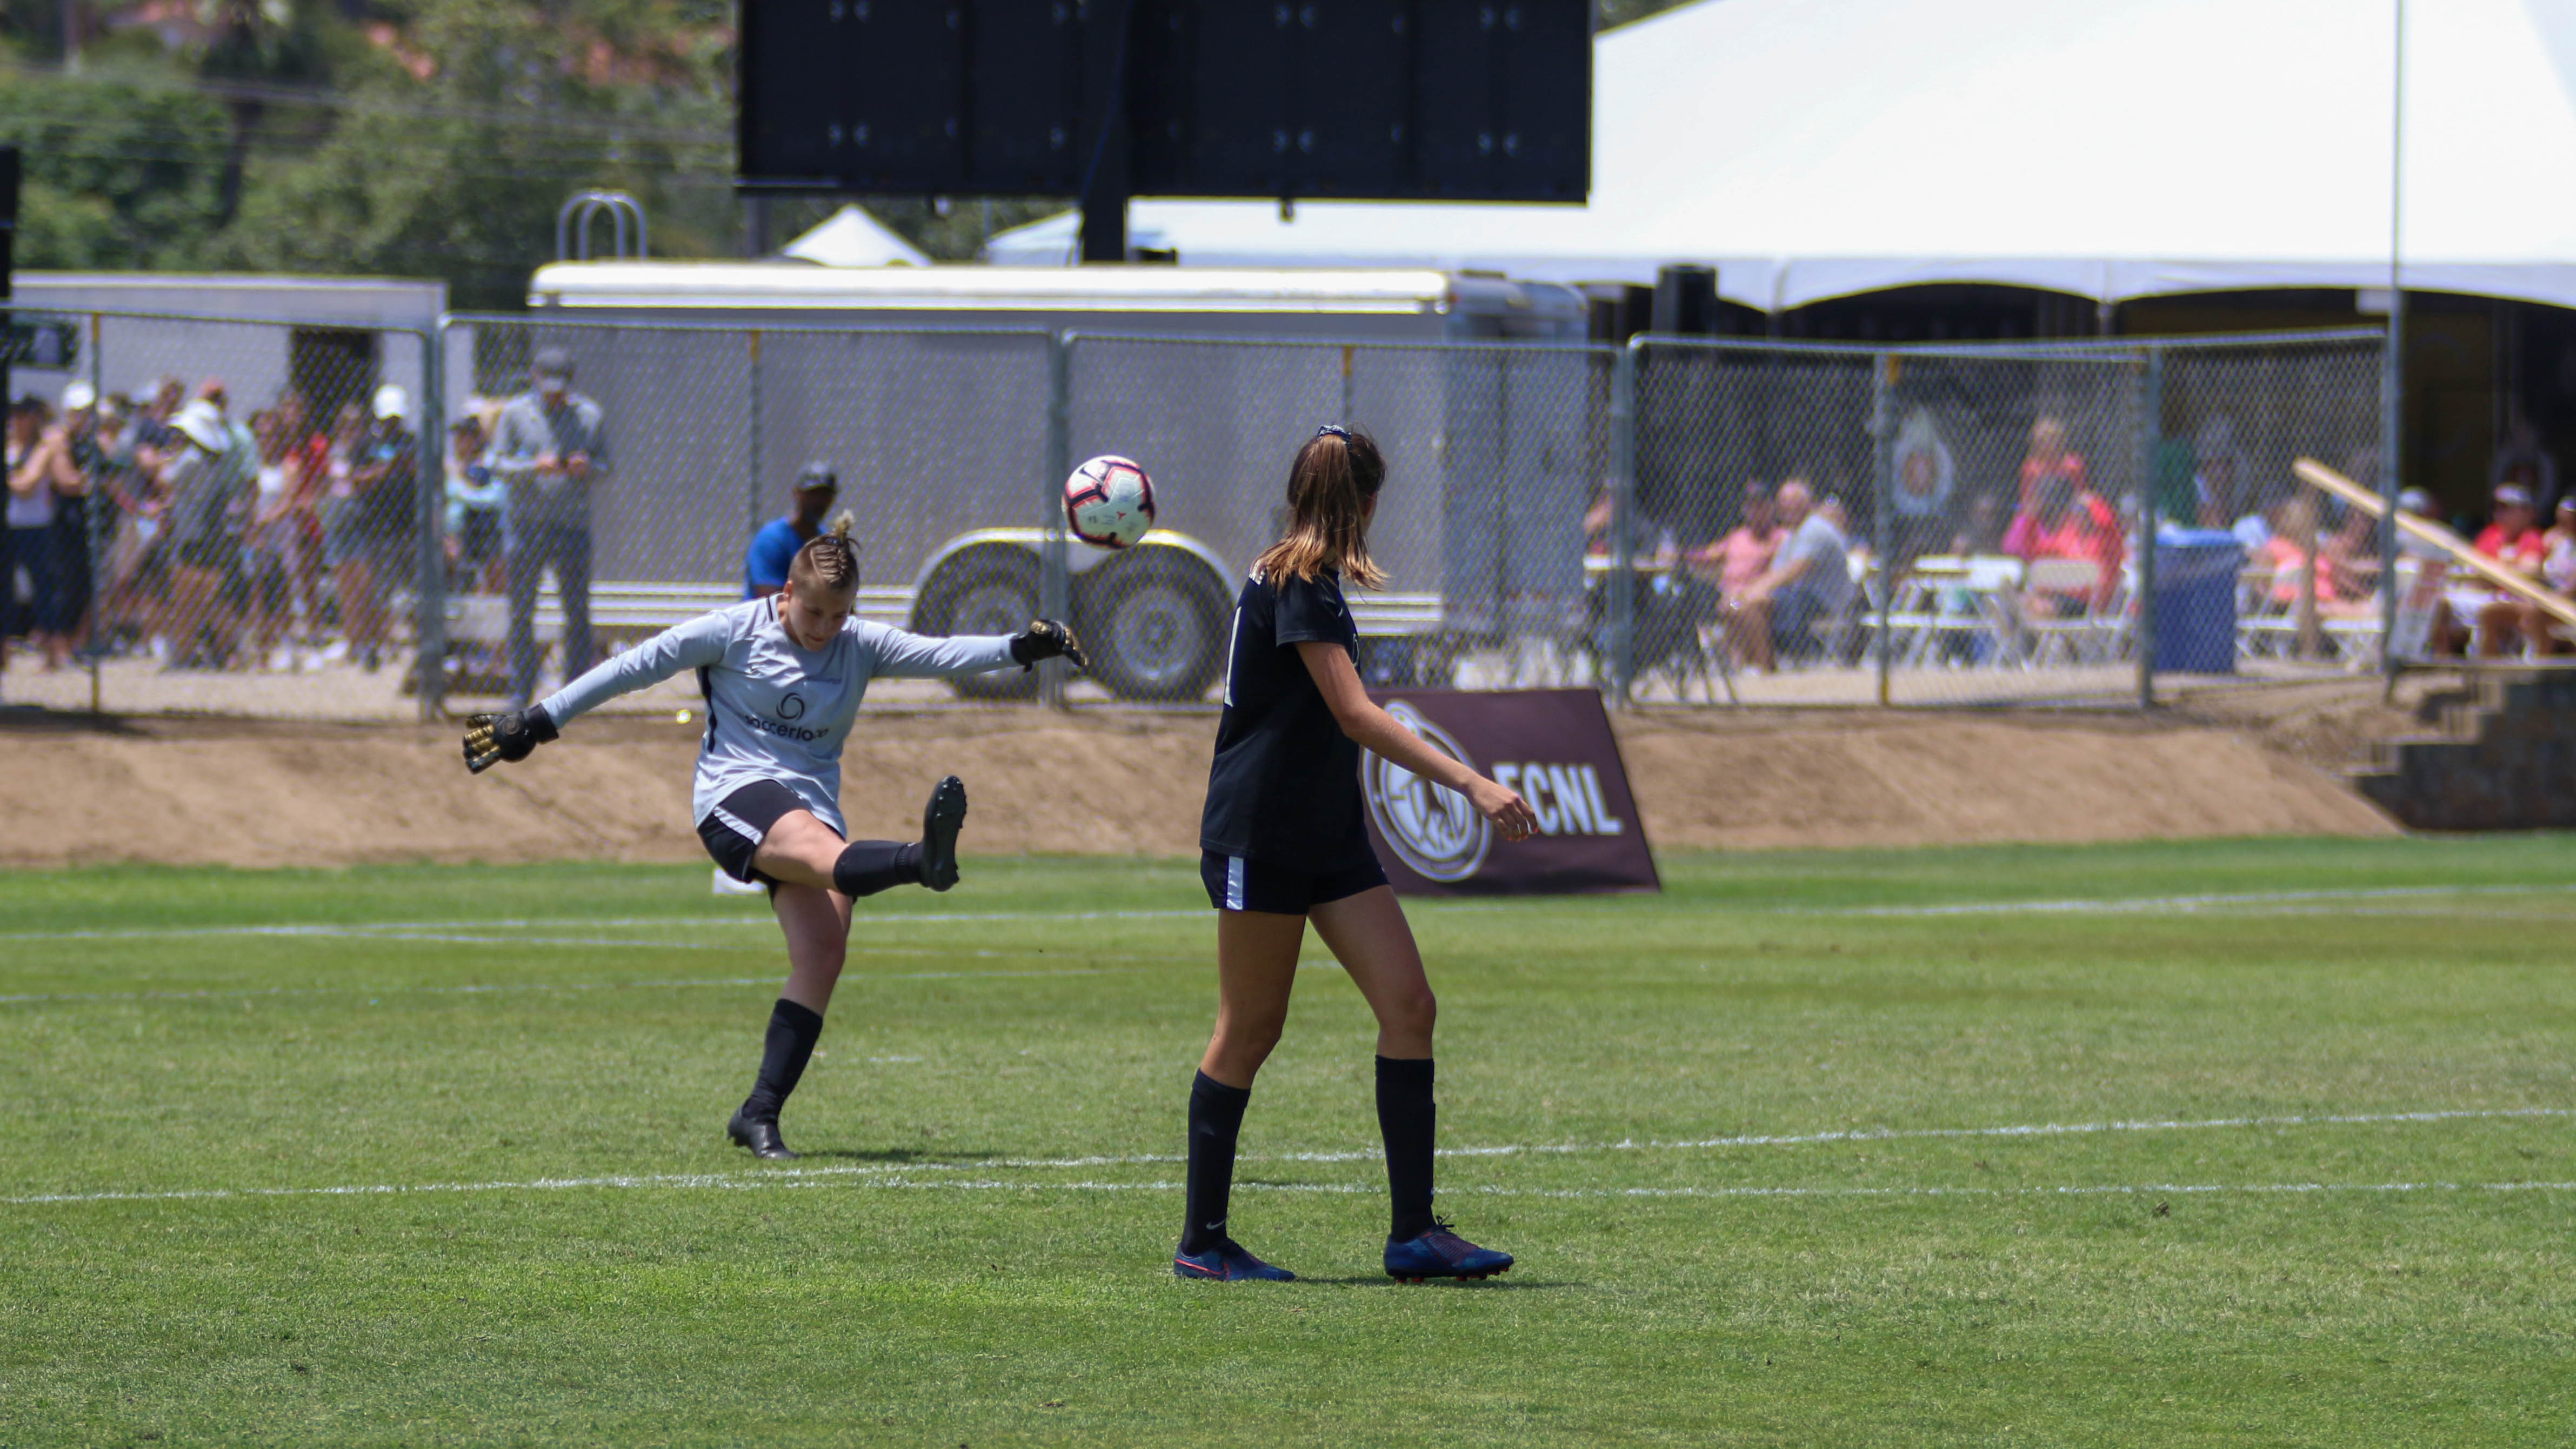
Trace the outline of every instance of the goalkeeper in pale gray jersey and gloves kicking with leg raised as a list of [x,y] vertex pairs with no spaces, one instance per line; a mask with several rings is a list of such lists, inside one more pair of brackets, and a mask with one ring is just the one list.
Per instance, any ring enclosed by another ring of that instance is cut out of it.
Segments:
[[706,744],[690,813],[698,839],[734,880],[770,888],[788,939],[788,983],[770,1009],[752,1094],[726,1135],[762,1158],[793,1158],[778,1138],[778,1109],[804,1076],[822,1014],[850,947],[850,901],[889,885],[948,891],[958,880],[958,826],[966,785],[951,775],[930,790],[917,842],[853,842],[840,816],[840,749],[868,679],[945,679],[1066,656],[1087,664],[1074,631],[1036,620],[1012,636],[925,638],[853,613],[858,546],[850,515],[796,551],[778,595],[693,618],[618,654],[554,697],[466,721],[466,767],[528,759],[582,710],[618,695],[698,672]]

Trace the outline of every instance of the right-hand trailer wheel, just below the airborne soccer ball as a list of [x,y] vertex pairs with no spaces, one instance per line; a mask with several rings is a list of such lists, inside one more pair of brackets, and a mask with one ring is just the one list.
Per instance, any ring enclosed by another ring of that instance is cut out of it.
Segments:
[[1198,700],[1226,669],[1231,600],[1177,548],[1141,548],[1084,579],[1082,643],[1121,700]]

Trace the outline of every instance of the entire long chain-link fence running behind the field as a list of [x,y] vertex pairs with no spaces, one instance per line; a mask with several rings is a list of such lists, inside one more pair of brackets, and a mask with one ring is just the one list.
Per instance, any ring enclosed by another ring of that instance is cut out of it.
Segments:
[[[57,322],[18,373],[46,412],[13,414],[10,466],[49,484],[10,502],[26,643],[0,682],[52,708],[394,721],[544,695],[739,600],[809,466],[858,517],[866,618],[1048,613],[1092,646],[1090,674],[878,697],[1203,705],[1324,422],[1391,463],[1388,587],[1355,600],[1381,685],[2120,703],[2378,667],[2383,577],[2424,592],[2290,474],[2378,486],[2370,332],[1873,350]],[[541,360],[595,407],[577,463],[531,425]],[[1154,476],[1146,546],[1066,540],[1059,486],[1092,453]],[[693,703],[680,679],[623,708]]]

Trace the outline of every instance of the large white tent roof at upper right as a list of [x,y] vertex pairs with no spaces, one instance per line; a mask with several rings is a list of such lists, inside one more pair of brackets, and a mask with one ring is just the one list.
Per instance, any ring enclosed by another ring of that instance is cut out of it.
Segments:
[[[1703,0],[1595,41],[1592,203],[1139,201],[1182,265],[1713,263],[1759,309],[1909,283],[2388,286],[2391,0]],[[2406,13],[2406,286],[2576,306],[2576,0]],[[1066,263],[1074,219],[989,260]]]

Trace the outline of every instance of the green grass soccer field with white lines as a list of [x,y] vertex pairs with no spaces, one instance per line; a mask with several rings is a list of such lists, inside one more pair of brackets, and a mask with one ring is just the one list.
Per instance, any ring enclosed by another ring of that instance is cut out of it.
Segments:
[[2576,839],[1664,867],[1414,906],[1427,1287],[1319,947],[1170,1277],[1188,862],[866,903],[781,1166],[706,867],[0,878],[0,1446],[2576,1439]]

